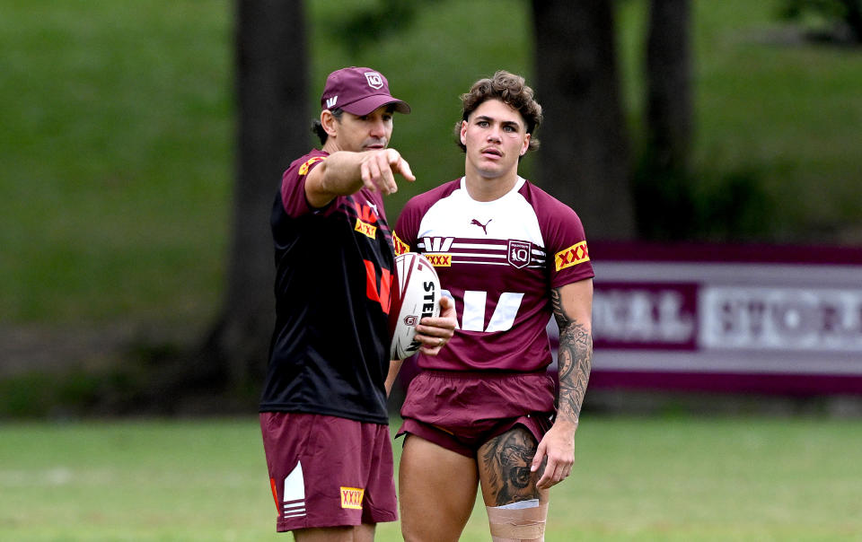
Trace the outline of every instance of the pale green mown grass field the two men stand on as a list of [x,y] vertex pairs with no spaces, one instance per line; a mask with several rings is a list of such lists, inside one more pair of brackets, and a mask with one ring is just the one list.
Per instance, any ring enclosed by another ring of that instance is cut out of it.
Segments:
[[[254,418],[0,433],[2,540],[290,539]],[[862,540],[860,449],[857,420],[585,416],[546,540]],[[398,525],[377,539],[400,540]],[[488,539],[478,506],[462,540]]]

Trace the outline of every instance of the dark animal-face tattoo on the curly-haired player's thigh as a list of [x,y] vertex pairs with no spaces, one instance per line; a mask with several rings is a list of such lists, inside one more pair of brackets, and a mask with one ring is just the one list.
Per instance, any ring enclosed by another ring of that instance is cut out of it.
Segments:
[[539,498],[536,480],[530,472],[535,455],[536,442],[523,428],[503,433],[482,445],[479,468],[487,473],[489,489],[497,495],[497,506]]

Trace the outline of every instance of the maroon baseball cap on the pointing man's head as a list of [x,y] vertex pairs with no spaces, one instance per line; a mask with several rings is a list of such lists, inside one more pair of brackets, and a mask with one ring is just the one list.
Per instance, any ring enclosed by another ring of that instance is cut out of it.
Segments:
[[351,66],[332,72],[326,78],[321,96],[322,109],[344,109],[354,115],[367,115],[382,105],[391,103],[400,113],[409,113],[406,101],[393,98],[389,82],[371,68]]

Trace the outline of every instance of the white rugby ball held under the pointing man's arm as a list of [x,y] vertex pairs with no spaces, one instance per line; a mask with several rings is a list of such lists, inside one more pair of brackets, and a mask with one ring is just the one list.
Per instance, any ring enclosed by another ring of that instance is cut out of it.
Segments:
[[390,355],[402,360],[416,354],[422,346],[416,325],[426,316],[440,315],[440,279],[431,262],[417,252],[395,257],[395,288],[389,309],[392,337]]

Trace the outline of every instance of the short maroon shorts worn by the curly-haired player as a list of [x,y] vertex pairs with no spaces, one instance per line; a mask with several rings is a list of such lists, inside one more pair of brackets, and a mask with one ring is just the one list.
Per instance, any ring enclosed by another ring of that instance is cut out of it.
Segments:
[[541,441],[553,414],[554,380],[544,372],[423,371],[410,381],[397,436],[415,434],[475,458],[515,425]]

